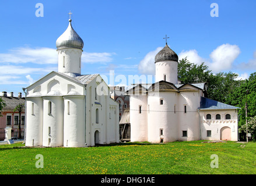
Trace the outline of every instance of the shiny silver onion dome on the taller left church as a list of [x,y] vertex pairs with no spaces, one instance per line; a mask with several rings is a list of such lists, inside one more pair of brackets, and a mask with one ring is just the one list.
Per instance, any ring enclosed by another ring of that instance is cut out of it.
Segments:
[[68,28],[66,28],[66,31],[59,36],[58,40],[56,41],[56,47],[57,49],[63,49],[63,48],[83,48],[83,40],[80,38],[80,36],[76,33],[75,30],[73,30],[72,20],[69,19],[69,25]]

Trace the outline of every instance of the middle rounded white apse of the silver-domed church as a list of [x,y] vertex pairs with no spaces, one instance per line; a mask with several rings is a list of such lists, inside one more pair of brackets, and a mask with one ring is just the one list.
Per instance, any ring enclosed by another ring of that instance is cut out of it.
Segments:
[[[45,96],[43,99],[43,146],[63,146],[64,100],[58,96]],[[52,102],[51,113],[48,113],[49,101]],[[48,127],[51,127],[50,134]]]

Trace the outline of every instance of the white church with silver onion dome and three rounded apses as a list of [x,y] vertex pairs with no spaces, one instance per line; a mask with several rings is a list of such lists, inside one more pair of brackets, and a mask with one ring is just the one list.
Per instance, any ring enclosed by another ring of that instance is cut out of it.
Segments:
[[119,142],[119,104],[99,74],[81,75],[83,40],[71,22],[56,41],[58,71],[27,87],[26,146]]

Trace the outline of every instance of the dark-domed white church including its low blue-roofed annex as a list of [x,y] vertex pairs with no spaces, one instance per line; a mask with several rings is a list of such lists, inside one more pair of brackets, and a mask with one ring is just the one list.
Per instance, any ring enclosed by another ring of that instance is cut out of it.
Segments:
[[205,98],[205,83],[180,84],[178,56],[167,43],[155,66],[156,83],[127,91],[132,142],[237,141],[239,108]]

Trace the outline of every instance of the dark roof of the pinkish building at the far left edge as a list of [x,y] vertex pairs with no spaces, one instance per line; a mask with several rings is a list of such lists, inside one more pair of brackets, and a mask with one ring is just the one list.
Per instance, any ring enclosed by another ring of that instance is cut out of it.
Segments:
[[[19,97],[9,97],[9,96],[0,96],[2,100],[5,102],[6,106],[2,109],[3,112],[13,112],[13,109],[19,103],[25,103],[25,98],[19,98]],[[25,109],[24,109],[25,110]]]

